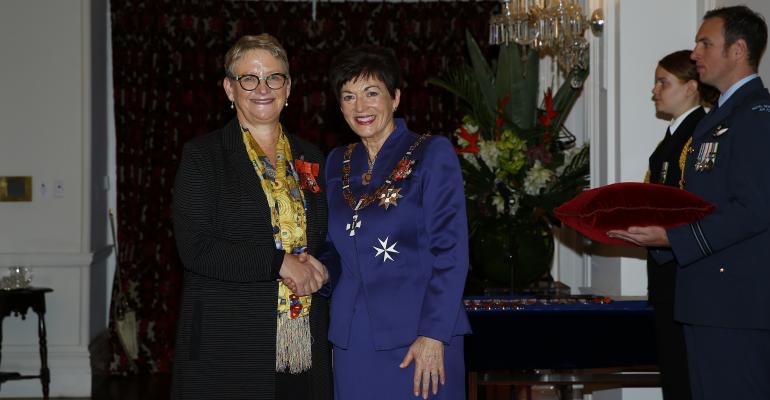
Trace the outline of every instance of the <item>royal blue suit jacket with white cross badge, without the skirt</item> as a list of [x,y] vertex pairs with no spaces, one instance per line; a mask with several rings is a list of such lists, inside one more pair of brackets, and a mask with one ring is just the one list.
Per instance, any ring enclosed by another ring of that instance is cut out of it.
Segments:
[[[375,191],[418,135],[403,120],[380,149],[368,186],[363,145],[351,157],[351,190],[356,199]],[[329,339],[345,348],[358,296],[366,302],[378,350],[410,345],[417,336],[448,343],[470,332],[462,305],[468,271],[468,232],[463,179],[451,143],[430,137],[415,151],[411,175],[396,184],[403,197],[386,210],[375,200],[359,211],[361,226],[350,236],[353,211],[342,195],[345,148],[326,165],[329,237],[341,271],[332,293]]]

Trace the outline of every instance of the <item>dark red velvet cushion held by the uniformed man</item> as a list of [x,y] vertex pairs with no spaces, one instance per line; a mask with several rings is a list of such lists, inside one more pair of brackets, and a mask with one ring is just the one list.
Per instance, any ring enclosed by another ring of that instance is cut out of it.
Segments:
[[671,186],[623,182],[587,190],[554,209],[554,214],[591,240],[629,244],[610,238],[607,231],[630,226],[672,228],[695,222],[715,208],[700,197]]

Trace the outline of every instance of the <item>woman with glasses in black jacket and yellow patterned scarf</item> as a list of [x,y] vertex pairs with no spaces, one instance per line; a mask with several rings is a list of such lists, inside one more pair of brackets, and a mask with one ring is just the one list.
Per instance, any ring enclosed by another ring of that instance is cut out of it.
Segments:
[[225,73],[236,117],[185,145],[174,185],[172,398],[330,400],[328,274],[311,256],[326,237],[324,159],[279,122],[291,78],[275,38],[242,37]]

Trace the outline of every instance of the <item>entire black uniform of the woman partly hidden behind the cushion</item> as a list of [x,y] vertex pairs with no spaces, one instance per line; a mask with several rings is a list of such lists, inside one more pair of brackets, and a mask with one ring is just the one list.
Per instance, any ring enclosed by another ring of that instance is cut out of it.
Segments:
[[[674,132],[667,130],[650,155],[647,182],[680,187],[687,144],[705,115],[703,108],[697,107],[684,117]],[[655,311],[655,341],[663,398],[687,400],[691,395],[684,332],[682,324],[674,320],[676,271],[676,261],[659,264],[653,257],[647,258],[647,290]]]

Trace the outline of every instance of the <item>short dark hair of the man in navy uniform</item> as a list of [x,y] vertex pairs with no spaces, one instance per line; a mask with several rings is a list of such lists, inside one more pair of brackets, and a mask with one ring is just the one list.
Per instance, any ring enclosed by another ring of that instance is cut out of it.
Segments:
[[759,60],[767,45],[767,24],[761,14],[746,6],[722,7],[711,10],[703,16],[721,18],[724,23],[722,34],[725,37],[725,49],[739,39],[746,42],[749,50],[749,65],[757,69]]

